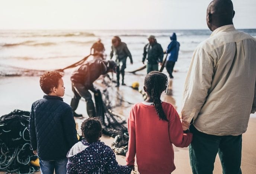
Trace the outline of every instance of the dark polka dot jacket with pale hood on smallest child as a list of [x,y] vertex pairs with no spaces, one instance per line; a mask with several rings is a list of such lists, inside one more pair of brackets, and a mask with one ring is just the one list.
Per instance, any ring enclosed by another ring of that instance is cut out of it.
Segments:
[[103,142],[76,143],[67,153],[67,174],[130,174],[131,168],[118,165],[113,150]]

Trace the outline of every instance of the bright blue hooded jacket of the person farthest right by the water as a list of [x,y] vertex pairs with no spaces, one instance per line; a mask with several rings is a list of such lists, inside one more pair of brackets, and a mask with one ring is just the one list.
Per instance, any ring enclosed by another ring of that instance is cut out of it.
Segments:
[[167,51],[166,51],[166,53],[168,54],[167,61],[176,62],[178,59],[178,55],[179,55],[180,43],[177,42],[177,37],[176,37],[175,33],[173,33],[173,35],[170,37],[170,39],[172,41],[168,45]]

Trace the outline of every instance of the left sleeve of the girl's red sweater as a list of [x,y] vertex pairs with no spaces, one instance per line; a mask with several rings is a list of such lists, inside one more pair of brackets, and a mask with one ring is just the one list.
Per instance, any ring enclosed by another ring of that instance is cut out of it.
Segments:
[[127,165],[134,165],[135,154],[136,154],[134,107],[132,107],[129,118],[128,118],[128,133],[129,133],[129,141],[128,141],[128,151],[126,154],[126,162],[127,162]]

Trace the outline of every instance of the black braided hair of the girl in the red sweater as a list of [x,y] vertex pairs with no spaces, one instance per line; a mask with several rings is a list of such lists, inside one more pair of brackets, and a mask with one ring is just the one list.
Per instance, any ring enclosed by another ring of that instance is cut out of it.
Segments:
[[168,121],[160,100],[161,93],[166,91],[168,86],[167,76],[158,71],[151,71],[145,77],[144,86],[149,94],[150,100],[154,103],[159,118]]

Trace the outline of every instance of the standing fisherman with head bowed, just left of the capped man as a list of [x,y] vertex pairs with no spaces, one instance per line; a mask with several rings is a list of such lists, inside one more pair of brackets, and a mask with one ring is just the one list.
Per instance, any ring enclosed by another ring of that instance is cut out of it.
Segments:
[[[127,57],[130,58],[131,64],[132,64],[132,55],[130,51],[127,48],[126,43],[121,42],[121,39],[118,36],[114,36],[112,39],[112,46],[111,46],[111,53],[110,58],[112,59],[114,53],[116,56],[116,87],[119,87],[119,79],[120,79],[120,72],[122,74],[122,85],[125,85],[124,83],[124,70],[126,68],[126,59]],[[120,69],[121,66],[121,69]]]

